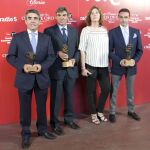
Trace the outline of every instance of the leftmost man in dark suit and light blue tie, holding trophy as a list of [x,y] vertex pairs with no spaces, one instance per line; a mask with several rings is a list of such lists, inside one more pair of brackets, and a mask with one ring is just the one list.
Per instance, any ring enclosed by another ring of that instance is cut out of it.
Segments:
[[46,99],[49,87],[48,68],[54,62],[50,38],[38,32],[40,14],[27,10],[25,14],[27,31],[14,35],[7,55],[7,61],[16,69],[15,87],[20,100],[20,124],[22,127],[22,148],[30,146],[31,99],[34,90],[37,106],[38,135],[47,139],[55,136],[47,130]]

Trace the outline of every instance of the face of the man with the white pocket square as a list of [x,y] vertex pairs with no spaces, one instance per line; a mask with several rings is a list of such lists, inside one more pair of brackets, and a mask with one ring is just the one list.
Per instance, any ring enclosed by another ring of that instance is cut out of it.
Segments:
[[120,24],[123,27],[126,27],[129,23],[130,15],[128,12],[120,12],[118,15],[118,18],[119,18]]

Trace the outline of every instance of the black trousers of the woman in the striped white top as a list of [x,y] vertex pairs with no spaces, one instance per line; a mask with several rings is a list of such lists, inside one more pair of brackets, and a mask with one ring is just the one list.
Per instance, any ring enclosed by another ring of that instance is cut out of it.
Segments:
[[[91,114],[98,112],[103,113],[107,97],[110,92],[110,78],[108,67],[92,67],[86,65],[87,69],[92,73],[86,79],[87,82],[87,101]],[[98,99],[98,107],[96,108],[96,82],[98,81],[101,92]]]

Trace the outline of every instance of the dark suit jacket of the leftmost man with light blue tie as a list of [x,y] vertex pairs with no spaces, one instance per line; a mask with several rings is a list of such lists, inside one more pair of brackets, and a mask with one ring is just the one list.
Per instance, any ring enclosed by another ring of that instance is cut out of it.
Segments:
[[26,54],[29,51],[33,52],[28,33],[21,32],[14,35],[9,46],[7,61],[16,68],[15,87],[26,90],[32,89],[36,79],[41,89],[48,88],[48,68],[55,59],[50,37],[43,33],[38,33],[35,62],[42,67],[40,73],[30,74],[23,71],[23,66],[29,64],[26,58]]

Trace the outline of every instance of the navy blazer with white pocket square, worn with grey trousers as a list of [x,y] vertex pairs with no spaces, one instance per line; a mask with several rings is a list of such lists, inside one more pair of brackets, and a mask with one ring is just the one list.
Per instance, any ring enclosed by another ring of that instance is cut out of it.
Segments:
[[137,62],[142,56],[142,43],[139,30],[129,27],[129,43],[132,44],[131,58],[135,60],[134,67],[121,67],[121,59],[126,58],[125,41],[121,28],[116,27],[109,32],[109,56],[112,59],[111,72],[115,75],[136,74]]

